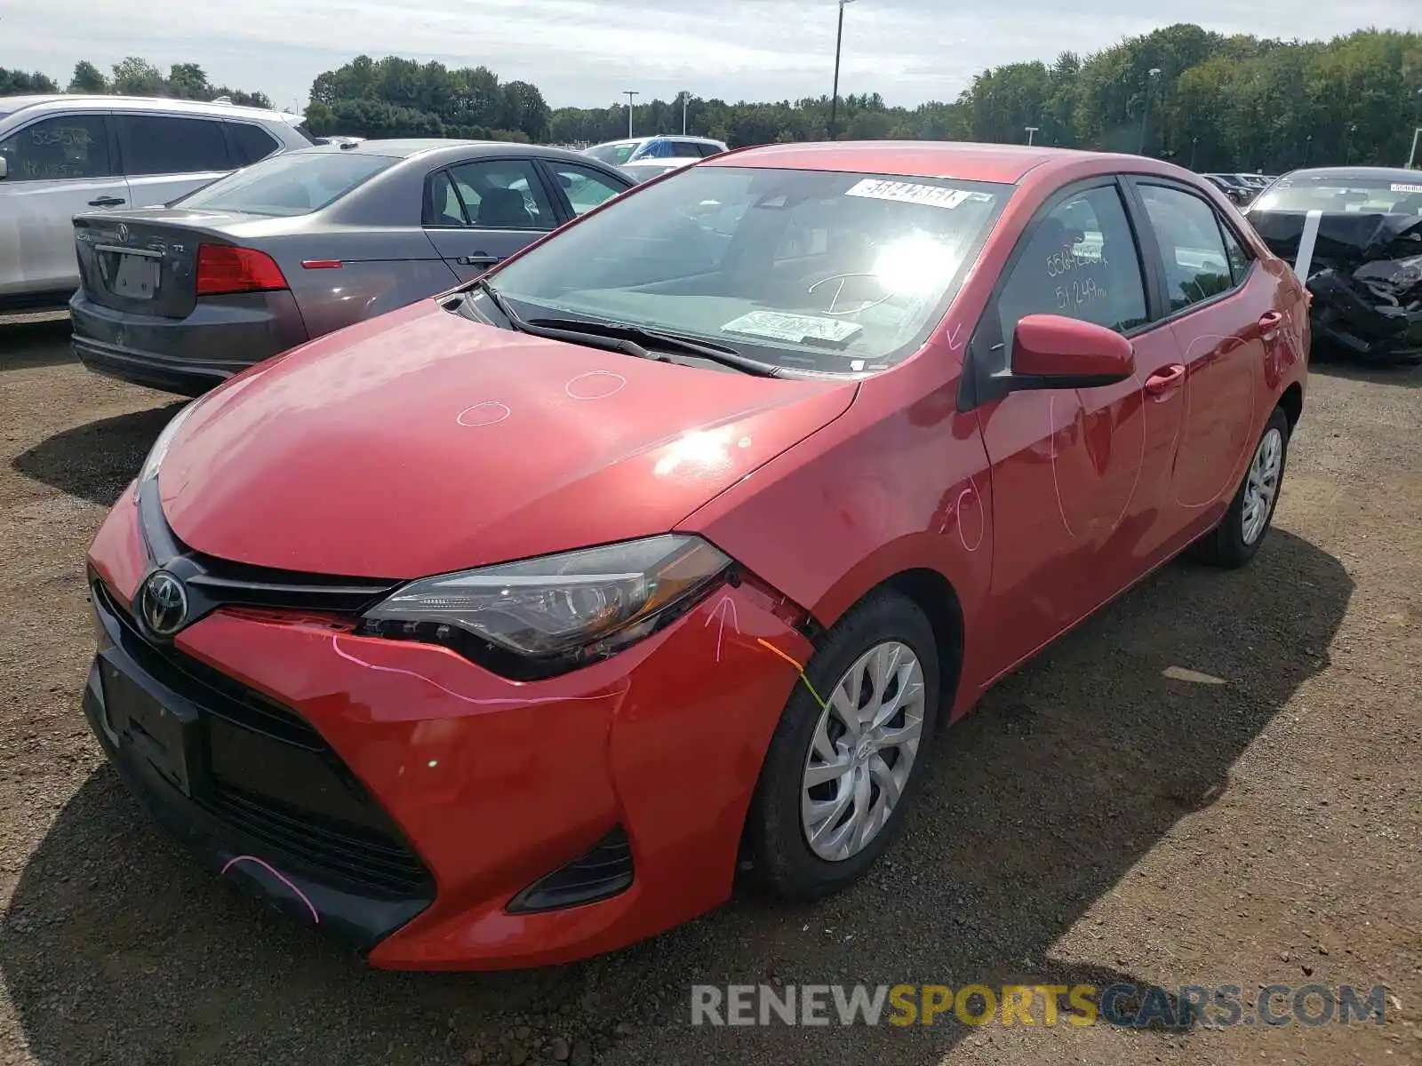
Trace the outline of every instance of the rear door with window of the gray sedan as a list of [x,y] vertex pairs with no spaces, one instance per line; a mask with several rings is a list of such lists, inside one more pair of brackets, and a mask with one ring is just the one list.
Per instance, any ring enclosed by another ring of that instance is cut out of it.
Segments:
[[530,159],[474,159],[425,182],[424,226],[461,281],[556,229],[563,213]]

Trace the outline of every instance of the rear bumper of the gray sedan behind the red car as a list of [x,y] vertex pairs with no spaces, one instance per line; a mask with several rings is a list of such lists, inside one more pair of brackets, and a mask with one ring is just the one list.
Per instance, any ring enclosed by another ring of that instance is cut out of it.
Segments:
[[81,289],[70,298],[74,354],[91,371],[196,397],[307,340],[289,291],[201,300],[186,318],[104,307]]

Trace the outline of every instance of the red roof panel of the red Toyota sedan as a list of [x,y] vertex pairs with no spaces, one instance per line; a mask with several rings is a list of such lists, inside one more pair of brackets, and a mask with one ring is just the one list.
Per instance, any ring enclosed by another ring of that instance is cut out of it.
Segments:
[[766,166],[798,171],[892,173],[902,178],[956,178],[1015,185],[1039,166],[1101,159],[1126,169],[1136,156],[1074,148],[983,145],[964,141],[832,141],[761,145],[702,159],[702,166]]

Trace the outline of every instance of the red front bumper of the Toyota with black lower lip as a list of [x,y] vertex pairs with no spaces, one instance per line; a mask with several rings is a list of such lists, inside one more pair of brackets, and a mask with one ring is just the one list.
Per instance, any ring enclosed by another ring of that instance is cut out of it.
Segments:
[[[138,746],[115,743],[97,674],[85,695],[95,733],[125,780],[210,866],[297,920],[343,934],[373,965],[567,962],[660,932],[729,895],[751,792],[796,682],[795,669],[759,641],[799,661],[809,654],[778,597],[754,583],[717,591],[611,659],[533,684],[505,681],[442,648],[357,637],[331,617],[219,608],[181,631],[166,654],[304,725],[330,766],[348,773],[350,793],[368,800],[358,816],[327,803],[323,813],[334,810],[338,826],[316,826],[350,834],[354,817],[383,834],[367,831],[364,843],[380,847],[364,858],[343,853],[340,867],[313,857],[303,839],[252,833],[212,814],[203,792],[212,779],[250,793],[269,756],[243,758],[230,743],[219,750],[210,731],[223,725],[223,708],[183,701],[191,691],[165,694],[159,671],[125,652],[114,627],[122,627],[148,567],[125,495],[91,549],[97,610],[109,634],[100,638],[100,659],[161,702],[191,706],[199,722],[195,797],[145,766]],[[282,813],[307,834],[319,822],[310,800]],[[630,885],[582,905],[530,912],[515,904],[549,874],[610,854],[616,833],[630,847]],[[373,871],[388,873],[401,849],[398,891],[388,877],[374,891]]]

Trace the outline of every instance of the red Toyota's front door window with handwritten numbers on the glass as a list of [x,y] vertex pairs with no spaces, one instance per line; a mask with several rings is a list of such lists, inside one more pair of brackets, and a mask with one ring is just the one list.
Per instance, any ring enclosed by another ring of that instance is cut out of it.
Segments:
[[1028,314],[1062,314],[1118,333],[1148,320],[1140,257],[1116,186],[1085,189],[1041,219],[997,310],[1005,341]]

